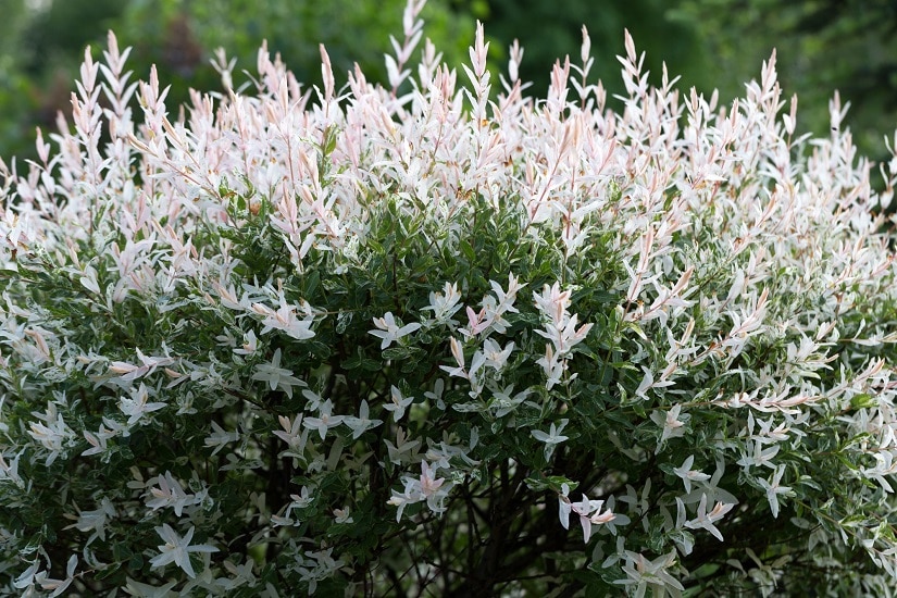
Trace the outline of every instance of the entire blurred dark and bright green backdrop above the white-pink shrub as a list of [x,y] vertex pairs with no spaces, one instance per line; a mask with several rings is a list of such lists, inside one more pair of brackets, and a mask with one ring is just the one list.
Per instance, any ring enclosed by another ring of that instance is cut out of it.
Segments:
[[[157,64],[169,105],[187,89],[220,89],[209,60],[223,47],[235,73],[253,72],[262,39],[300,82],[320,79],[319,42],[327,46],[337,85],[358,62],[385,80],[389,35],[400,35],[406,0],[0,0],[0,157],[33,158],[35,127],[53,129],[84,55],[99,58],[105,33],[134,47],[129,64],[146,78]],[[620,92],[623,29],[647,52],[652,83],[661,62],[681,89],[720,90],[730,102],[777,48],[786,97],[800,98],[798,129],[825,135],[829,99],[850,101],[847,125],[860,149],[886,159],[884,136],[897,125],[897,2],[894,0],[429,0],[425,35],[457,65],[466,58],[476,20],[491,42],[490,64],[507,64],[514,38],[525,49],[521,78],[544,95],[551,65],[578,62],[581,26],[596,58],[593,77]],[[340,77],[340,75],[342,75]],[[245,78],[235,77],[239,84]],[[495,79],[497,80],[497,79]],[[615,100],[611,101],[614,107]]]

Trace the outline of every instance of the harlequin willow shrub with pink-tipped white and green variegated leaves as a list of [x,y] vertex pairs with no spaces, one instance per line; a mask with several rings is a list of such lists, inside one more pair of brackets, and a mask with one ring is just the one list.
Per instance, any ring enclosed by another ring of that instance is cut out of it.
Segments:
[[493,102],[419,10],[389,89],[262,50],[177,119],[86,53],[4,177],[3,591],[890,591],[897,162],[774,57],[718,108],[627,37],[614,112],[584,36]]

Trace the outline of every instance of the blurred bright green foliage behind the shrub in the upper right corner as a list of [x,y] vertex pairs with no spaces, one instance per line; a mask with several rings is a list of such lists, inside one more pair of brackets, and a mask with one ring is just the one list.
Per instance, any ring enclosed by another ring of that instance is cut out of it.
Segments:
[[711,80],[723,97],[742,94],[742,77],[777,49],[781,80],[800,96],[803,127],[824,134],[834,90],[851,108],[861,151],[888,160],[882,130],[897,117],[897,10],[887,0],[683,0],[670,17],[701,40]]

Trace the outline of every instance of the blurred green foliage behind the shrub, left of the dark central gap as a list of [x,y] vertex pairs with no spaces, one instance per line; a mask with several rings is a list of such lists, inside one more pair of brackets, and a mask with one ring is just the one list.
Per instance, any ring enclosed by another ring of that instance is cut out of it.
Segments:
[[[220,77],[210,64],[216,48],[227,48],[236,61],[236,83],[242,84],[244,71],[254,68],[262,39],[308,87],[321,85],[322,42],[335,72],[345,75],[358,61],[371,80],[385,83],[383,55],[390,50],[389,35],[401,28],[404,2],[55,0],[37,11],[25,11],[18,0],[16,5],[22,15],[10,15],[17,25],[10,26],[16,35],[8,38],[13,41],[7,48],[7,79],[0,64],[2,124],[9,128],[0,129],[0,155],[35,159],[35,127],[52,126],[59,111],[71,115],[77,59],[86,45],[101,43],[109,29],[133,47],[129,64],[137,76],[147,78],[157,67],[171,86],[169,103],[177,107],[190,100],[190,89],[217,88]],[[441,0],[429,2],[424,16],[445,60],[460,63],[473,20],[450,11]]]

